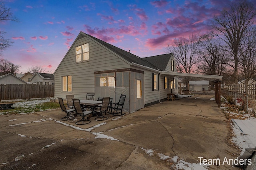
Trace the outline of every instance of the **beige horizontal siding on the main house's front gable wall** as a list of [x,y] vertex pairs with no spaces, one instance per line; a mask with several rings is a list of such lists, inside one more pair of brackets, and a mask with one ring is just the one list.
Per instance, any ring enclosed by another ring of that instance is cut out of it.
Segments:
[[[89,61],[76,63],[75,47],[89,43]],[[55,77],[55,98],[66,98],[67,94],[74,94],[75,98],[85,99],[86,93],[94,92],[94,72],[130,68],[126,63],[106,48],[102,47],[88,37],[77,39],[70,47],[62,63],[56,70]],[[72,92],[61,92],[61,76],[72,76]]]

